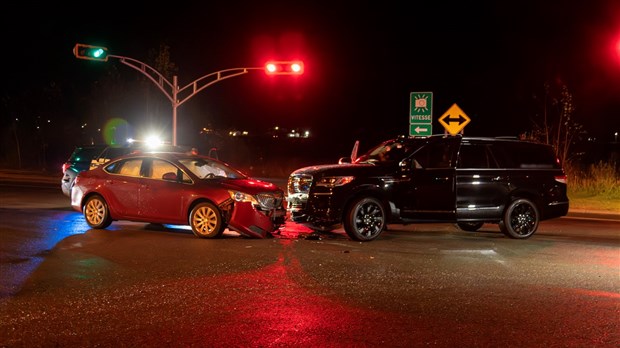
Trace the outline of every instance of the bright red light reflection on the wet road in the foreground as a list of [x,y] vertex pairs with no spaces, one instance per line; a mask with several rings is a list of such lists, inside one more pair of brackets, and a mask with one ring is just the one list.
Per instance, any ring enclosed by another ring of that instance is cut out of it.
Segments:
[[[295,241],[281,243],[290,246]],[[415,336],[411,317],[398,318],[395,313],[356,307],[350,301],[330,296],[328,289],[313,282],[298,260],[288,255],[280,255],[277,262],[259,270],[195,281],[220,289],[205,290],[209,293],[205,305],[212,311],[211,303],[218,303],[216,312],[227,313],[207,316],[193,328],[190,336],[201,337],[201,345],[398,346],[394,342]],[[368,335],[367,330],[373,334]],[[364,337],[363,342],[359,342],[360,337]]]

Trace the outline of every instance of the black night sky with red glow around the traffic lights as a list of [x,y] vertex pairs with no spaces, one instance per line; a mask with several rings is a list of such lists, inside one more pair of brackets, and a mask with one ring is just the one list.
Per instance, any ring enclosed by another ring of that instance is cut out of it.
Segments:
[[[574,120],[592,136],[611,140],[620,131],[620,1],[221,3],[15,5],[0,15],[1,95],[60,85],[66,111],[54,122],[80,119],[87,111],[73,101],[98,98],[92,85],[109,65],[123,78],[139,73],[112,59],[78,60],[75,43],[145,62],[165,43],[181,86],[268,59],[305,64],[301,77],[254,71],[207,88],[179,107],[181,139],[207,126],[279,125],[347,146],[378,141],[408,133],[411,92],[433,92],[434,133],[456,103],[471,119],[466,135],[516,136],[540,114],[534,98],[546,82],[569,88]],[[2,110],[7,127],[13,115]],[[114,117],[170,131],[170,109],[155,118],[136,110],[118,107]]]

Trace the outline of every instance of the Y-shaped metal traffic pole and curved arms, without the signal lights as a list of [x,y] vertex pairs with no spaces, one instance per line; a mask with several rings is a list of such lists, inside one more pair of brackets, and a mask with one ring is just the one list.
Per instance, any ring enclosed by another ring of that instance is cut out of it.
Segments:
[[142,75],[146,76],[164,93],[168,100],[170,100],[170,103],[172,104],[172,145],[174,146],[177,145],[177,108],[181,104],[185,103],[191,97],[195,96],[205,88],[215,83],[224,81],[231,77],[247,74],[250,70],[264,70],[263,67],[219,70],[199,77],[196,80],[188,83],[185,87],[179,88],[176,75],[172,77],[172,83],[170,83],[170,81],[168,81],[159,71],[137,59],[112,54],[108,55],[107,57],[116,58],[121,63],[131,67],[132,69],[137,70]]

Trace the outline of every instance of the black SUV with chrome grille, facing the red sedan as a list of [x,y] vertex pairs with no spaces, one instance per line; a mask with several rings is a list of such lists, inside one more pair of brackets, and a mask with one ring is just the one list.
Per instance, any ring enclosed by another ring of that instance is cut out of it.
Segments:
[[287,201],[292,221],[317,231],[344,225],[357,241],[376,239],[388,223],[421,222],[465,231],[496,223],[525,239],[569,205],[551,146],[461,135],[401,136],[348,161],[297,169]]

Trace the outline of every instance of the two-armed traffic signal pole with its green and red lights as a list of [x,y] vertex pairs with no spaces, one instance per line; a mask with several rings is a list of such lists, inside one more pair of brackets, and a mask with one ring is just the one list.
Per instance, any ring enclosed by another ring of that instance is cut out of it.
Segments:
[[[137,70],[157,85],[172,104],[172,145],[174,146],[177,145],[177,108],[205,88],[231,77],[247,74],[250,70],[265,70],[267,73],[279,75],[300,75],[303,73],[303,62],[301,61],[272,61],[264,67],[219,70],[199,77],[185,87],[179,88],[176,75],[172,77],[171,83],[164,75],[146,63],[129,57],[108,54],[108,49],[105,47],[78,43],[73,48],[73,54],[79,59],[99,61],[107,61],[108,58],[119,59],[121,63]],[[273,71],[270,71],[271,69]]]

